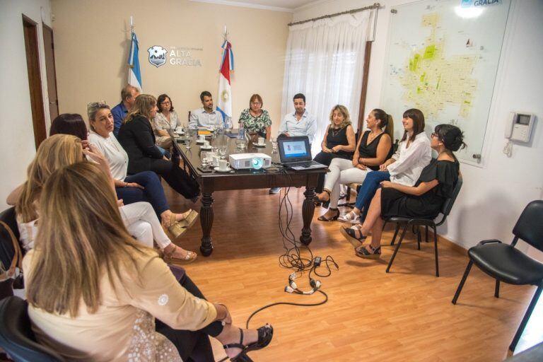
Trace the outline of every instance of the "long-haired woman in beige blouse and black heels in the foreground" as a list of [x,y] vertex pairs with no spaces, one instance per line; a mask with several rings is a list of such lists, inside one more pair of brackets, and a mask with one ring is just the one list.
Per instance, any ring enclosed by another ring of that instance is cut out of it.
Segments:
[[[136,243],[98,165],[75,163],[52,173],[40,210],[35,249],[23,260],[28,314],[37,340],[66,359],[192,358],[175,336],[185,331],[177,329],[216,337],[233,361],[271,341],[271,326],[235,327],[225,305],[193,296],[156,252]],[[163,321],[158,332],[155,318]]]

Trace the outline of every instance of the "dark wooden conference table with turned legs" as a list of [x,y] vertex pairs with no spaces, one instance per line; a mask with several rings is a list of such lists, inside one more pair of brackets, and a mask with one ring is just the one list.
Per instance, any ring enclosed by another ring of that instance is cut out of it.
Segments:
[[[311,221],[315,212],[313,196],[317,186],[319,174],[325,173],[326,168],[307,171],[294,171],[282,168],[280,165],[272,165],[268,170],[233,170],[230,173],[219,173],[216,171],[203,172],[201,169],[200,145],[196,142],[196,136],[174,135],[174,151],[178,153],[185,163],[185,169],[196,177],[202,190],[202,209],[200,209],[200,223],[202,224],[202,255],[209,256],[213,252],[213,239],[211,238],[211,227],[213,226],[213,193],[233,189],[269,189],[270,187],[302,187],[305,199],[302,206],[303,228],[300,235],[300,242],[308,245],[311,243]],[[265,153],[271,156],[274,163],[279,164],[279,151],[272,153],[271,142],[267,141],[265,147],[253,146],[252,142],[247,148],[240,151],[236,149],[235,138],[226,134],[219,134],[207,138],[211,146],[228,146],[228,155],[233,153]],[[189,145],[189,147],[187,147]],[[213,169],[213,168],[209,168]]]

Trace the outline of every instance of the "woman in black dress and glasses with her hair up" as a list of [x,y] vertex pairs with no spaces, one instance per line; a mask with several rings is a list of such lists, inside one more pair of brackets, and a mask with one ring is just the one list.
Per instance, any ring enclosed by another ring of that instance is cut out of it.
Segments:
[[[451,197],[460,173],[460,164],[452,152],[465,147],[462,131],[452,124],[436,126],[431,147],[438,152],[438,158],[431,160],[422,170],[414,186],[381,182],[381,188],[371,200],[368,216],[362,226],[341,228],[341,233],[355,246],[358,257],[380,257],[383,218],[435,218],[445,199]],[[370,232],[371,243],[363,246],[363,240]]]

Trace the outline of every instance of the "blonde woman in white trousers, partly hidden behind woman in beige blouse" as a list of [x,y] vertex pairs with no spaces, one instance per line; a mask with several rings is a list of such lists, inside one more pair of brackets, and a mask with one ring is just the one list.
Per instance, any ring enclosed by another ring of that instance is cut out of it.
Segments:
[[[42,214],[37,207],[37,200],[47,178],[54,170],[83,161],[83,153],[97,160],[103,172],[109,175],[109,166],[100,153],[92,145],[91,151],[83,151],[81,139],[76,136],[55,134],[37,148],[36,156],[28,166],[28,180],[14,190],[7,200],[8,204],[16,205],[17,223],[25,250],[34,247],[37,223]],[[109,187],[112,188],[111,179]],[[153,240],[156,240],[168,262],[187,264],[196,259],[195,252],[184,250],[171,242],[160,226],[151,204],[136,202],[121,206],[119,211],[131,235],[148,247],[153,247]]]

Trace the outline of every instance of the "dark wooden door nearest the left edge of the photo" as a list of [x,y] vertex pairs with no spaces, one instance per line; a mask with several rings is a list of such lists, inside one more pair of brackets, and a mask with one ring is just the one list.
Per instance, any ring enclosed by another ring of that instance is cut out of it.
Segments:
[[30,108],[34,125],[36,148],[47,137],[45,131],[45,111],[43,109],[42,77],[40,75],[40,53],[37,47],[37,23],[23,15],[25,34],[26,68],[30,90]]

